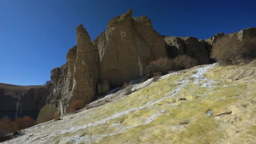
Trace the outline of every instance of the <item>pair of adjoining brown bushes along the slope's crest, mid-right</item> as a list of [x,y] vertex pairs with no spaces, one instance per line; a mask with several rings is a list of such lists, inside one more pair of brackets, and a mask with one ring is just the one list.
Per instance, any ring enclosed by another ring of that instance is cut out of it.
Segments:
[[160,75],[165,75],[171,70],[182,70],[195,67],[197,61],[187,55],[180,55],[176,58],[159,58],[156,61],[149,63],[147,67],[147,74],[153,75],[153,77]]

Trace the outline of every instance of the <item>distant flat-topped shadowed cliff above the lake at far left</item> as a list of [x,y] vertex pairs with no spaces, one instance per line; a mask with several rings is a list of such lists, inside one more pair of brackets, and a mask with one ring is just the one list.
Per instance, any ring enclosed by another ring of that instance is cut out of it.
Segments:
[[0,83],[0,111],[34,111],[45,105],[45,86],[16,86]]

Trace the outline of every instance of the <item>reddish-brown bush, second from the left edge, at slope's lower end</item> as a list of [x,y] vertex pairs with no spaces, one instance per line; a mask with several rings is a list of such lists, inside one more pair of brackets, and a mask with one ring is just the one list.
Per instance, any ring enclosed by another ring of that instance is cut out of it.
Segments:
[[13,125],[16,130],[22,130],[33,127],[34,125],[36,125],[36,121],[34,121],[34,119],[29,116],[25,116],[22,118],[16,118],[13,122]]

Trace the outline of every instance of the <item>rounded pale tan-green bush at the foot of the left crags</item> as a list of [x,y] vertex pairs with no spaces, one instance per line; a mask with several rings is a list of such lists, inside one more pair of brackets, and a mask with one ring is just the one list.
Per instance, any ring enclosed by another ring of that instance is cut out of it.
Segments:
[[56,112],[56,108],[53,105],[44,105],[37,116],[37,124],[44,123],[54,119],[54,113]]

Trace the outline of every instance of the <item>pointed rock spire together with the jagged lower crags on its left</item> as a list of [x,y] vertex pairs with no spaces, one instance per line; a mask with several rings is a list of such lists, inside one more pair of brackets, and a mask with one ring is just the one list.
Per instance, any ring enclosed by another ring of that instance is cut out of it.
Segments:
[[77,46],[66,56],[67,63],[51,71],[52,85],[48,103],[63,107],[72,100],[90,103],[96,98],[98,83],[98,52],[83,25],[77,27]]

